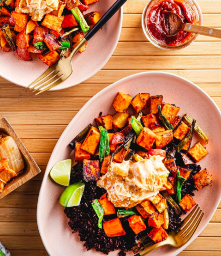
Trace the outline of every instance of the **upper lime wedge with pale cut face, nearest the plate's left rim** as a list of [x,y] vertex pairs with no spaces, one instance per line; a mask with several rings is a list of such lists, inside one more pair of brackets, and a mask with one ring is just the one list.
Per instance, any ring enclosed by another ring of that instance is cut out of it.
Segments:
[[50,171],[51,178],[58,184],[68,186],[72,169],[72,160],[66,159],[58,162]]

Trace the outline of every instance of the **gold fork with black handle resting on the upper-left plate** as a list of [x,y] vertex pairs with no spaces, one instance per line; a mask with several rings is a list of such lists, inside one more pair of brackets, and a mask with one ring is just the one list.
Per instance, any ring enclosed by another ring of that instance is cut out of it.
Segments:
[[[54,63],[48,68],[45,73],[43,73],[39,78],[37,78],[33,83],[31,83],[28,88],[34,90],[36,95],[48,91],[57,85],[60,85],[65,81],[73,72],[72,69],[72,57],[78,52],[78,50],[93,37],[97,31],[99,31],[104,24],[120,9],[120,7],[127,0],[117,0],[113,6],[102,16],[102,18],[96,23],[96,25],[87,33],[84,39],[78,44],[78,46],[72,51],[71,55],[67,58],[60,59],[57,63]],[[37,84],[36,84],[37,83]],[[48,85],[48,86],[47,86]],[[47,86],[47,87],[46,87]]]

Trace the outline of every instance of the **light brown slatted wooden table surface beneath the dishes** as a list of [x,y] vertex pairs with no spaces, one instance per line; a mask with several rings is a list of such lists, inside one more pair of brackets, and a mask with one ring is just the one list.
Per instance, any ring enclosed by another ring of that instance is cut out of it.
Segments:
[[[63,91],[34,97],[29,90],[0,78],[0,117],[11,122],[42,173],[0,200],[0,241],[12,256],[47,256],[36,224],[39,189],[48,159],[66,125],[98,91],[125,76],[148,70],[176,73],[199,85],[221,108],[221,40],[197,37],[179,51],[155,48],[143,35],[146,0],[128,0],[113,56],[94,77]],[[198,0],[203,24],[221,27],[221,1]],[[1,63],[2,64],[2,63]],[[220,134],[219,134],[220,136]],[[217,170],[220,171],[220,170]],[[209,225],[180,256],[221,256],[221,204]]]

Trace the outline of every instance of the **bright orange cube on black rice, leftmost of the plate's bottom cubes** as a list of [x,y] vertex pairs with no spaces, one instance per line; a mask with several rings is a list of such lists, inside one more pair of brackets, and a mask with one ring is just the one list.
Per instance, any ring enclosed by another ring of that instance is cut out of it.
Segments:
[[119,218],[111,219],[103,223],[103,229],[108,237],[124,236],[126,234]]

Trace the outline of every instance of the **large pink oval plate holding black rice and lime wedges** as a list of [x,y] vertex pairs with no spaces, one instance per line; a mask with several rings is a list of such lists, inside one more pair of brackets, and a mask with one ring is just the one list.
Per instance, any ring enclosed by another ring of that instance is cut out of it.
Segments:
[[[99,116],[101,111],[103,115],[114,113],[111,104],[119,91],[128,93],[132,97],[139,92],[148,92],[150,95],[162,94],[164,102],[179,106],[181,108],[180,116],[188,113],[195,118],[197,124],[209,136],[209,144],[206,146],[209,155],[200,161],[200,165],[202,168],[208,168],[213,182],[210,186],[196,192],[194,196],[205,212],[201,224],[191,240],[181,248],[164,246],[150,255],[175,256],[179,254],[203,231],[218,207],[221,199],[220,110],[203,90],[184,78],[162,72],[138,73],[119,80],[91,98],[67,126],[54,148],[44,175],[37,205],[39,232],[50,256],[103,255],[96,250],[87,251],[83,246],[84,242],[80,242],[78,234],[72,234],[72,230],[67,224],[68,219],[63,212],[64,208],[59,204],[60,194],[65,187],[54,183],[48,174],[55,163],[72,157],[72,151],[68,146],[69,142],[90,122],[93,123],[94,118]],[[198,140],[197,137],[194,140]],[[117,256],[117,251],[111,252],[109,255]],[[131,255],[133,255],[132,252],[127,253],[127,256]]]

